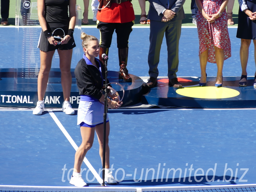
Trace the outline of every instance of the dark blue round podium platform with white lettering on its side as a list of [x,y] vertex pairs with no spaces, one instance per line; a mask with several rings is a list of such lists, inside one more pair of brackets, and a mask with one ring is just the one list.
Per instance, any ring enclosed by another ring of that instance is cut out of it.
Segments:
[[[31,69],[31,71],[34,73],[35,70]],[[21,68],[17,70],[14,68],[0,69],[0,107],[34,108],[36,106],[38,100],[37,78],[22,77],[22,73]],[[70,103],[73,108],[78,108],[80,96],[76,86],[74,69],[71,69],[71,75]],[[108,71],[109,82],[117,82],[124,87],[123,106],[139,103],[142,95],[143,81],[139,77],[131,75],[132,82],[124,82],[118,79],[118,75],[117,71]],[[120,86],[112,84],[112,87],[119,93],[120,97],[123,96]],[[44,106],[45,108],[61,108],[62,102],[60,69],[52,68],[44,97]]]

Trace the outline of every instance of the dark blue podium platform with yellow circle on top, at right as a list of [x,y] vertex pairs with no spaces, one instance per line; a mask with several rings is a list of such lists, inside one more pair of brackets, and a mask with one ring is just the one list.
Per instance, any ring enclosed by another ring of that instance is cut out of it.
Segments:
[[[181,77],[178,79],[183,85],[182,89],[168,86],[168,78],[158,79],[158,85],[149,89],[148,93],[142,96],[142,103],[178,108],[256,107],[256,89],[253,87],[254,76],[247,78],[246,87],[239,87],[240,77],[223,77],[223,85],[220,88],[215,87],[216,77],[207,77],[206,87],[199,86],[200,77]],[[190,93],[191,90],[194,91]],[[184,92],[186,96],[179,94],[179,92]],[[192,93],[195,95],[195,92],[196,97],[189,95]],[[205,94],[208,96],[203,98]]]

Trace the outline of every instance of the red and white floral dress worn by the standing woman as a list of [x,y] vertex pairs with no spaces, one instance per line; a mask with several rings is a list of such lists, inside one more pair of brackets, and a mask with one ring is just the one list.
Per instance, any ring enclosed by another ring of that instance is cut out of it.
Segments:
[[[209,14],[218,13],[222,0],[201,0],[204,11]],[[213,23],[209,23],[200,11],[196,15],[197,31],[199,38],[199,55],[209,47],[208,61],[216,63],[214,46],[224,50],[224,60],[231,57],[231,45],[228,36],[228,15],[226,9]]]

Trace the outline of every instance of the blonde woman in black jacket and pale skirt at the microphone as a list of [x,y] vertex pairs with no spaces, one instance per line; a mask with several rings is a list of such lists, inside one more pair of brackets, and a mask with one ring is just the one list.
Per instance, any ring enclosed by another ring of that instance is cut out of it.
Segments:
[[[92,147],[94,139],[94,130],[97,133],[100,144],[100,157],[102,161],[103,151],[103,111],[104,95],[101,92],[105,82],[105,68],[103,63],[96,57],[99,55],[100,44],[96,37],[81,34],[84,50],[83,59],[81,59],[75,69],[76,83],[81,95],[77,112],[77,124],[80,124],[82,135],[82,144],[76,151],[74,172],[70,184],[77,187],[83,187],[87,184],[80,175],[81,165],[87,151]],[[108,99],[108,107],[117,109],[122,105],[116,101]],[[105,158],[105,181],[108,184],[116,184],[116,180],[109,170],[109,119],[107,116],[106,124],[106,158]]]

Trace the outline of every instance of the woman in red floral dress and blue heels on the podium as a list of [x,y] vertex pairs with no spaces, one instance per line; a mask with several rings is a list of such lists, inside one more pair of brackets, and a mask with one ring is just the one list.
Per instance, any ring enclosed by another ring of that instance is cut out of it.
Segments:
[[201,67],[200,86],[206,85],[207,61],[217,63],[216,87],[222,86],[222,68],[224,60],[231,57],[228,36],[227,12],[228,0],[196,0],[196,15],[199,37],[199,60]]

